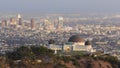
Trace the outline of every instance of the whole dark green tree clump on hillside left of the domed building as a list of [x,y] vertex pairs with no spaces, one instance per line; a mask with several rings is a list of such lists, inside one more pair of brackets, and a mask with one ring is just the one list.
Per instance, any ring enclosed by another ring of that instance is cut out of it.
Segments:
[[21,46],[15,49],[13,52],[7,52],[6,57],[12,60],[22,60],[24,58],[36,59],[38,56],[48,55],[51,56],[54,54],[53,50],[50,50],[43,46]]

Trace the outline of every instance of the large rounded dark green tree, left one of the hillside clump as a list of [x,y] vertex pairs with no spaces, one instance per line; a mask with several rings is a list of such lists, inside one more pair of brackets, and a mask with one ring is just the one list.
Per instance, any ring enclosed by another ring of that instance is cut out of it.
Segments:
[[30,59],[34,59],[35,55],[32,52],[32,50],[26,46],[21,46],[19,48],[17,48],[16,50],[14,50],[13,52],[8,52],[6,54],[6,56],[9,59],[13,59],[13,60],[21,60],[23,58],[30,58]]

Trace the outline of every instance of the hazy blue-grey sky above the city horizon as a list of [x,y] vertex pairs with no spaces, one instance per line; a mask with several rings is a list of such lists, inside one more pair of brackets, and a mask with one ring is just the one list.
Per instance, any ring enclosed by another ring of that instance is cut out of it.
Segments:
[[0,12],[120,12],[120,0],[0,0]]

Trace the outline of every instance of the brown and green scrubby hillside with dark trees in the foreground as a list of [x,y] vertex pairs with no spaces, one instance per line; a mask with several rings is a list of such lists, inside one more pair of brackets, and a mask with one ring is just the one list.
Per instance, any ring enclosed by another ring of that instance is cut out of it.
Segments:
[[120,62],[110,55],[55,55],[44,47],[20,47],[0,57],[0,68],[120,68]]

